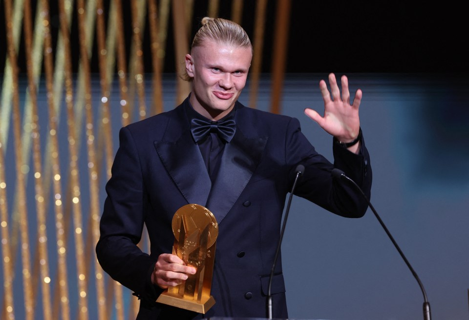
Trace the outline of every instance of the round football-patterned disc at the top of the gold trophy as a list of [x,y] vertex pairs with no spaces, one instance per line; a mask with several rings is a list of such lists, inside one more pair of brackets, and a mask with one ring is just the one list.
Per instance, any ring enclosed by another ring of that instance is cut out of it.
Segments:
[[186,234],[192,233],[196,229],[203,230],[209,226],[209,237],[207,247],[210,248],[218,237],[218,223],[215,216],[204,206],[199,204],[186,204],[179,208],[172,218],[172,233],[176,239],[179,239],[179,226],[181,219],[185,218]]

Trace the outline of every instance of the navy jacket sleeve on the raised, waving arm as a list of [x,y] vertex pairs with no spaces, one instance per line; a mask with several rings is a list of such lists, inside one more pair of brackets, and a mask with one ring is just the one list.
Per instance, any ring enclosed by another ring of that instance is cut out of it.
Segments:
[[287,134],[289,138],[286,154],[287,162],[291,165],[291,185],[295,178],[296,166],[298,164],[305,166],[304,174],[298,180],[295,194],[342,217],[362,217],[368,208],[367,200],[351,184],[333,179],[332,169],[338,168],[354,180],[369,200],[372,172],[363,136],[359,154],[354,154],[333,141],[334,163],[331,163],[316,152],[302,134],[297,119],[290,121]]

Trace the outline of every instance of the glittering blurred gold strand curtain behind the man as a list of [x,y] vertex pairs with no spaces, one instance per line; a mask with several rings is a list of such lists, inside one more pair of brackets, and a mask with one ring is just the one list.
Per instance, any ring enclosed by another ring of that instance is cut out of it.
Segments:
[[[223,18],[241,25],[254,19],[251,107],[256,107],[267,6],[277,6],[275,43],[266,50],[272,52],[271,111],[280,113],[290,0],[254,1],[248,18],[246,2],[229,2],[230,14]],[[190,83],[178,74],[195,28],[193,0],[0,4],[6,48],[0,56],[0,319],[134,319],[137,298],[102,271],[94,254],[103,189],[118,144],[116,130],[162,112],[165,103],[174,107],[189,94]],[[206,15],[218,16],[221,5],[207,0]],[[174,52],[172,75],[164,74],[169,52]],[[174,82],[170,102],[165,80]],[[149,250],[145,234],[139,246]]]

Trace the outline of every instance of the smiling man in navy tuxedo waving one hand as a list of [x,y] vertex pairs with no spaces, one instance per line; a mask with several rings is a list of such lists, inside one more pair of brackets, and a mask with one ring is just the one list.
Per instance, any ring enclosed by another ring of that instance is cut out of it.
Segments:
[[[252,45],[230,20],[204,18],[186,55],[188,98],[175,109],[120,130],[96,246],[98,260],[140,301],[137,319],[266,317],[266,294],[284,203],[298,164],[295,194],[343,217],[362,217],[367,202],[332,179],[339,168],[370,195],[371,167],[360,129],[361,90],[350,103],[329,75],[320,90],[324,116],[305,114],[333,136],[334,164],[318,154],[299,121],[243,106]],[[161,292],[195,274],[171,254],[174,213],[190,203],[207,207],[218,223],[211,294],[205,314],[155,302]],[[144,224],[150,254],[137,243]],[[287,318],[281,259],[273,282],[274,318]],[[300,262],[298,268],[303,266]]]

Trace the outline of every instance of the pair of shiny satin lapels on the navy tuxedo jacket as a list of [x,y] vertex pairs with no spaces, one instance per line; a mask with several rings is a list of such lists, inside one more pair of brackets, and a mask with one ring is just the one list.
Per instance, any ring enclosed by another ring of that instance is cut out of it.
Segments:
[[220,223],[251,179],[268,137],[258,136],[256,125],[246,115],[247,108],[238,103],[236,133],[225,145],[212,187],[199,147],[192,139],[183,109],[185,103],[168,113],[171,117],[163,138],[154,141],[154,145],[161,162],[188,203],[207,207]]

